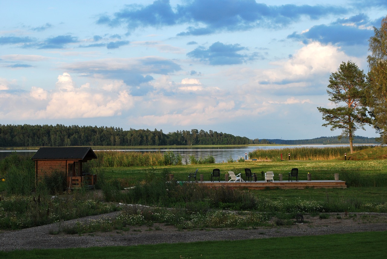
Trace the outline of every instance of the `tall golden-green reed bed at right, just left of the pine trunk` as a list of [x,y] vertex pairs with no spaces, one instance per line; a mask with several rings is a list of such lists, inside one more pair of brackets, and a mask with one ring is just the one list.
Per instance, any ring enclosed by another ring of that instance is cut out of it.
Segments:
[[[372,148],[373,146],[354,146],[354,151]],[[280,161],[281,154],[283,160],[332,160],[344,158],[344,154],[349,155],[349,146],[342,147],[301,147],[301,148],[280,148],[280,149],[255,149],[248,153],[250,159]]]

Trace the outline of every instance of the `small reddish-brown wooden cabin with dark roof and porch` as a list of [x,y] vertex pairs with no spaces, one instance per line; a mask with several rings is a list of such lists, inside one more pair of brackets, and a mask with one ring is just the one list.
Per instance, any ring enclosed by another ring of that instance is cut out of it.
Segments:
[[39,148],[31,158],[35,161],[36,183],[45,175],[53,172],[65,172],[69,189],[96,184],[96,175],[89,175],[82,171],[82,163],[96,159],[91,148],[87,147],[60,147]]

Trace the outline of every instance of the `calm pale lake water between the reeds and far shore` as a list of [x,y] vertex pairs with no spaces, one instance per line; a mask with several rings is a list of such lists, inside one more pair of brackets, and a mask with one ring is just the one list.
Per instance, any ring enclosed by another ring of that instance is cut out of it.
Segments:
[[[150,149],[150,148],[137,148],[137,149],[120,149],[119,151],[140,151],[140,152],[157,152],[157,151],[167,151],[172,150],[175,154],[181,154],[183,157],[183,163],[185,159],[189,161],[190,156],[195,156],[196,159],[205,158],[208,155],[215,158],[216,163],[227,162],[231,157],[233,160],[238,160],[238,158],[245,158],[245,154],[255,150],[255,149],[281,149],[281,148],[297,148],[297,147],[315,147],[315,148],[327,148],[327,147],[336,147],[336,146],[349,146],[349,145],[291,145],[291,146],[238,146],[238,147],[192,147],[189,146],[179,147],[179,148],[169,148],[169,149]],[[93,149],[98,151],[98,149]],[[0,150],[0,160],[12,154],[12,152],[17,152],[17,154],[30,156],[32,157],[37,150]],[[284,159],[286,159],[287,154],[284,154]]]

